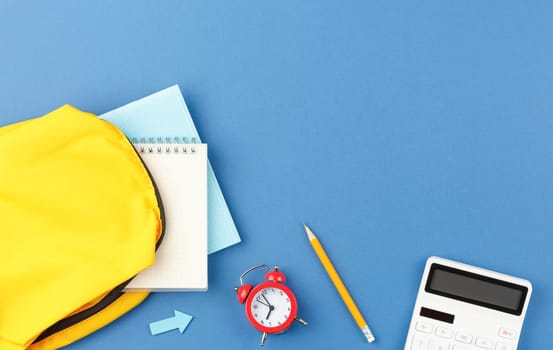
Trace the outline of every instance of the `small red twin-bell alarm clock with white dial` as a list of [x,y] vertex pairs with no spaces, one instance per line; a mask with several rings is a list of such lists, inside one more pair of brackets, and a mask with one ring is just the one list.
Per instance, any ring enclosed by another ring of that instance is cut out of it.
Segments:
[[[243,279],[248,273],[258,268],[266,268],[265,282],[255,287],[244,284]],[[240,287],[234,288],[238,302],[245,304],[248,321],[263,332],[261,343],[265,345],[267,334],[279,334],[287,330],[294,321],[304,326],[307,322],[298,317],[298,303],[294,293],[283,283],[286,276],[279,271],[278,265],[272,270],[267,265],[250,267],[240,276]]]

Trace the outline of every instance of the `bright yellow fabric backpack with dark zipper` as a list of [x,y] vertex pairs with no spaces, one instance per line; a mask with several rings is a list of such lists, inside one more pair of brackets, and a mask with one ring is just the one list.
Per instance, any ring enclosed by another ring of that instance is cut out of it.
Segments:
[[64,106],[0,128],[0,349],[57,349],[129,311],[163,210],[115,126]]

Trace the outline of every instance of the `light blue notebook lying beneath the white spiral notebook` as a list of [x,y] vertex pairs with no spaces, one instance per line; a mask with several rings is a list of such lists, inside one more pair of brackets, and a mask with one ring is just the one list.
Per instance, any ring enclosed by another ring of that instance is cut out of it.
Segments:
[[[188,137],[201,142],[178,85],[99,116],[119,127],[130,139]],[[207,174],[208,253],[240,242],[221,187],[211,164]]]

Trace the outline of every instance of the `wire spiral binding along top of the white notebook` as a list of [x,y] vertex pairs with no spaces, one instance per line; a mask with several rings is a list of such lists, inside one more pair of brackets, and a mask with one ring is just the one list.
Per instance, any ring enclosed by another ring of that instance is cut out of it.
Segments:
[[196,153],[195,137],[133,137],[131,142],[140,153]]

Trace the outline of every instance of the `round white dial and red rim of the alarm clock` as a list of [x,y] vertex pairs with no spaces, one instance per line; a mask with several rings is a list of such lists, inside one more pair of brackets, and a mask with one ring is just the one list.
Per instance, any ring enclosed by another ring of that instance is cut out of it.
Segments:
[[285,331],[297,314],[296,298],[283,284],[265,282],[256,286],[246,302],[248,320],[255,328],[267,333]]

